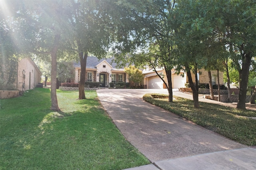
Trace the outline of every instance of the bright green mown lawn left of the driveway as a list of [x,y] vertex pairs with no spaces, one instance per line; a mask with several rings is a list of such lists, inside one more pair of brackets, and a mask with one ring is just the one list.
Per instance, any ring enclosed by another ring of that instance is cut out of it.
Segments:
[[150,162],[134,148],[98,101],[96,91],[57,90],[62,111],[50,110],[50,90],[36,88],[0,101],[0,169],[122,170]]

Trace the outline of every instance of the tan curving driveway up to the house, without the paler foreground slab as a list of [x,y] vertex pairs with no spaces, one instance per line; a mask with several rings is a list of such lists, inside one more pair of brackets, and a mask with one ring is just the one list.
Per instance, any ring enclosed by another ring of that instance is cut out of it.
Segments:
[[150,89],[102,89],[98,97],[114,123],[151,162],[247,148],[142,100]]

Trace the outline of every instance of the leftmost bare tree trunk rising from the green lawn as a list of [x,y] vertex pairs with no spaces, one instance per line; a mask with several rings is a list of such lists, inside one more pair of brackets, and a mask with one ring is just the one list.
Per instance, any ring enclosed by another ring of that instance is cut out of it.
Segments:
[[60,41],[60,35],[56,34],[54,37],[54,45],[51,51],[52,58],[52,73],[51,73],[51,100],[52,100],[52,110],[60,110],[58,106],[57,93],[56,93],[56,83],[57,83],[57,51],[58,44]]

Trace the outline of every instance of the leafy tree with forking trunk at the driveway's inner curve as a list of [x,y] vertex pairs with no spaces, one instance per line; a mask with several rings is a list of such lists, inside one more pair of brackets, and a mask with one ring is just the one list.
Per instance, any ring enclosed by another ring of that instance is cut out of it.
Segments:
[[[115,55],[117,63],[124,64],[129,61],[136,66],[149,66],[166,85],[169,92],[169,101],[172,102],[172,76],[174,68],[175,49],[171,27],[172,11],[175,6],[174,0],[145,0],[128,1],[124,5],[130,8],[130,16],[134,22],[130,37],[122,43],[122,48]],[[127,50],[128,49],[128,50]],[[121,54],[119,53],[121,52]],[[126,53],[129,53],[126,55]],[[163,68],[166,75],[159,74],[157,69]],[[164,77],[167,77],[167,82]]]

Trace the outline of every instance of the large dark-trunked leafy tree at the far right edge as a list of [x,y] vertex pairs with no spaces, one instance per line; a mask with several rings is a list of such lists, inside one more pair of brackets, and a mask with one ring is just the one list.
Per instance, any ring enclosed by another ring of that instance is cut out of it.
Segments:
[[223,29],[226,44],[236,55],[232,61],[239,72],[238,109],[245,109],[246,92],[252,57],[256,55],[256,1],[226,1],[222,8]]

